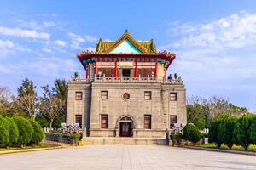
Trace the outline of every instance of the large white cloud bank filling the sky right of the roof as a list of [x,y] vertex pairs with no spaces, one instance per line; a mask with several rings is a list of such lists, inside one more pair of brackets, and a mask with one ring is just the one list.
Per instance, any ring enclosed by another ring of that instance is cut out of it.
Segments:
[[224,95],[236,105],[256,109],[256,14],[174,23],[168,34],[172,42],[160,50],[177,54],[169,71],[183,77],[188,94]]

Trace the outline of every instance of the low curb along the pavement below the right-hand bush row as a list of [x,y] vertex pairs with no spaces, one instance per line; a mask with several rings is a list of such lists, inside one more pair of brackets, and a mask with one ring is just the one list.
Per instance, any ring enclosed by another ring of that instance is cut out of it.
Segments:
[[253,151],[242,151],[242,150],[222,150],[222,149],[213,149],[213,148],[201,148],[201,147],[193,147],[193,146],[179,146],[180,148],[186,148],[191,150],[207,150],[207,151],[215,151],[215,152],[223,152],[230,154],[240,154],[246,156],[256,156],[256,152]]

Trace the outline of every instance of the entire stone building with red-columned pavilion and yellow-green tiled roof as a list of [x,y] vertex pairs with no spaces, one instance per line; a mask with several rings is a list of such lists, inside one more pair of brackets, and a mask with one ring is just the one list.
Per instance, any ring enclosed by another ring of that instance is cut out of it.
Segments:
[[176,58],[157,52],[154,40],[137,42],[128,31],[96,51],[77,54],[85,79],[68,82],[67,123],[79,123],[90,137],[166,137],[166,129],[187,122],[181,77],[166,71]]

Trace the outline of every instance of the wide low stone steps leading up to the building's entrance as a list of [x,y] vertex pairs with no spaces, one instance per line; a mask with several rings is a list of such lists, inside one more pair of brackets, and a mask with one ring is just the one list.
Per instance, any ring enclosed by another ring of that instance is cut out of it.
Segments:
[[100,138],[86,137],[83,141],[86,144],[143,144],[143,145],[166,145],[166,139],[156,138]]

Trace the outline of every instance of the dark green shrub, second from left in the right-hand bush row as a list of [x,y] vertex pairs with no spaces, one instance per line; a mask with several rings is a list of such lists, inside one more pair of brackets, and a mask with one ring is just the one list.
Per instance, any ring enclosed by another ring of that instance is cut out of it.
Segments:
[[236,116],[224,116],[218,125],[218,144],[226,144],[230,149],[234,144],[233,130],[237,119]]

